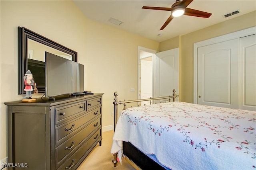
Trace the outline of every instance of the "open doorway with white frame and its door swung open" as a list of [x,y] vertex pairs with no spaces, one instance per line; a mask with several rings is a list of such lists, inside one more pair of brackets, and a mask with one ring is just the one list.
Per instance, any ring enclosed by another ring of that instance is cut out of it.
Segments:
[[138,99],[169,96],[173,89],[179,93],[179,48],[157,53],[138,47]]

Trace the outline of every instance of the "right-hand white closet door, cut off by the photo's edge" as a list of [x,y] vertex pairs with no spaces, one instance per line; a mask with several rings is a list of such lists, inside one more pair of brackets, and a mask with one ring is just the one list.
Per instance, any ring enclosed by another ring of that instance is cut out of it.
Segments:
[[256,111],[256,35],[239,39],[239,109]]

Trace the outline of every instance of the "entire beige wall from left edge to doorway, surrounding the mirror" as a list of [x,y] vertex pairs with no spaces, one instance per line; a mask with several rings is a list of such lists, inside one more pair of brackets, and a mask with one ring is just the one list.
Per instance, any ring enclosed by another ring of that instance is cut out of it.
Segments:
[[[18,95],[18,26],[78,52],[78,62],[85,68],[85,90],[105,93],[104,127],[114,124],[114,91],[122,98],[137,97],[138,46],[159,50],[156,41],[88,20],[72,1],[1,0],[0,10],[0,160],[7,156],[7,107],[3,103],[25,97]],[[136,91],[130,92],[131,87]]]

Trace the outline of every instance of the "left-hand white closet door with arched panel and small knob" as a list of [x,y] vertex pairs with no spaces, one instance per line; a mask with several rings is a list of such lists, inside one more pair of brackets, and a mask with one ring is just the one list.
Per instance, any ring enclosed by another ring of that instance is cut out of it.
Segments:
[[198,48],[198,104],[238,108],[238,39]]

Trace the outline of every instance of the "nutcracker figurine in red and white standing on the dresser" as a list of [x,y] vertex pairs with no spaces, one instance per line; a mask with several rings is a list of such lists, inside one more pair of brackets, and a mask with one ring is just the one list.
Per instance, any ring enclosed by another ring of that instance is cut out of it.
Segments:
[[34,90],[33,86],[36,85],[36,82],[34,82],[33,74],[31,73],[30,70],[28,70],[26,72],[23,79],[24,79],[24,84],[25,84],[24,91],[26,92],[26,99],[31,99],[31,93]]

